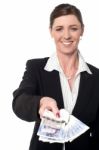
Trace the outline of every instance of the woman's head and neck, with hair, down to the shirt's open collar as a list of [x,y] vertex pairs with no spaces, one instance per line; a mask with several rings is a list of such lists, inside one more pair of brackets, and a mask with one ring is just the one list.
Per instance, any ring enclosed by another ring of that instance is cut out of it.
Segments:
[[[61,10],[61,7],[64,7],[64,10]],[[68,8],[65,10],[64,4],[56,7],[53,13],[50,16],[50,33],[56,44],[57,57],[60,65],[67,79],[71,80],[69,84],[72,88],[72,82],[78,69],[78,58],[76,59],[75,57],[78,54],[80,37],[84,32],[82,16],[80,11],[74,11],[73,7],[71,10]],[[68,67],[66,67],[67,65]]]

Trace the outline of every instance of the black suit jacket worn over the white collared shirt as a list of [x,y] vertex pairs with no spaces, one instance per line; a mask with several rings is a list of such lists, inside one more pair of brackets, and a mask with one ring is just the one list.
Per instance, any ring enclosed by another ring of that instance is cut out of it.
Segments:
[[[39,102],[43,96],[57,101],[64,108],[59,73],[47,72],[44,66],[48,58],[29,60],[22,82],[13,96],[15,114],[26,121],[35,121],[30,150],[62,150],[63,144],[49,144],[38,140],[40,123]],[[76,105],[72,114],[90,127],[90,130],[72,141],[65,143],[66,150],[99,150],[99,70],[89,65],[92,74],[81,73]]]

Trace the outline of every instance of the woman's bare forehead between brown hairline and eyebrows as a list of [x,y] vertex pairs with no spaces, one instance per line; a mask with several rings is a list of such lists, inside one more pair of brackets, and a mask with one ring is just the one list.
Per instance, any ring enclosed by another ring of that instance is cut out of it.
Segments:
[[65,15],[55,18],[53,26],[70,26],[70,25],[77,25],[80,26],[81,23],[79,22],[78,18],[75,15]]

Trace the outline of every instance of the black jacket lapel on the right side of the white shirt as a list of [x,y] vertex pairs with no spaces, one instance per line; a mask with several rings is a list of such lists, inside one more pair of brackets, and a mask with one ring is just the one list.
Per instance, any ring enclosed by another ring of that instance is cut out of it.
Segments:
[[83,116],[84,110],[87,109],[87,106],[89,104],[93,85],[92,77],[93,75],[88,74],[87,72],[81,73],[78,98],[73,110],[73,115],[78,118]]

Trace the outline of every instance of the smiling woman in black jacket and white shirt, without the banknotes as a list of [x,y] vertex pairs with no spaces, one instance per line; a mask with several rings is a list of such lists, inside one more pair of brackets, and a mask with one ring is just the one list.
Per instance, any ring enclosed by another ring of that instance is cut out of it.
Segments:
[[[35,121],[30,150],[99,149],[99,70],[87,64],[78,50],[84,32],[80,10],[60,4],[50,15],[50,33],[56,53],[28,60],[19,88],[13,93],[13,110],[26,121]],[[45,109],[59,116],[65,108],[90,129],[65,144],[39,141],[38,127]]]

